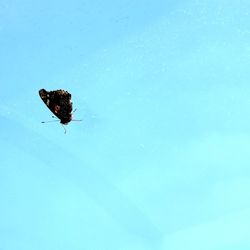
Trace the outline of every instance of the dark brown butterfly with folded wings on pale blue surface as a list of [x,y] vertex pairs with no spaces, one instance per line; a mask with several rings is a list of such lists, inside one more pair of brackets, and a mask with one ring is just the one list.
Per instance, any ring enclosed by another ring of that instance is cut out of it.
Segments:
[[[47,91],[39,90],[39,95],[50,111],[60,120],[62,125],[67,125],[72,121],[72,101],[71,94],[65,90]],[[81,120],[74,120],[81,121]],[[43,122],[44,123],[44,122]],[[66,129],[64,127],[65,133]]]

